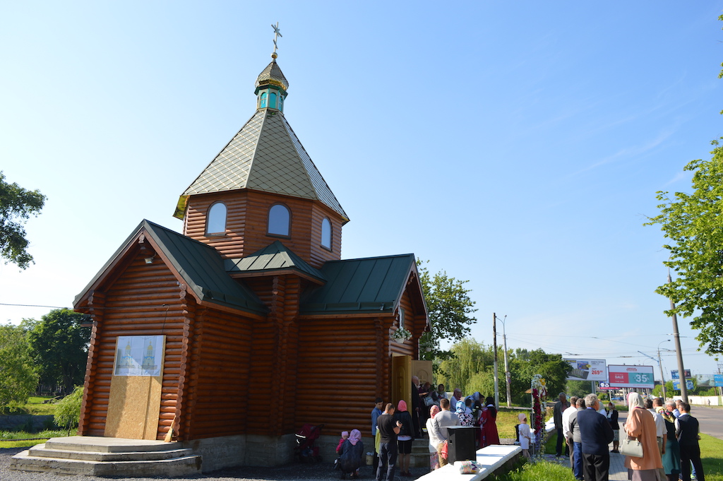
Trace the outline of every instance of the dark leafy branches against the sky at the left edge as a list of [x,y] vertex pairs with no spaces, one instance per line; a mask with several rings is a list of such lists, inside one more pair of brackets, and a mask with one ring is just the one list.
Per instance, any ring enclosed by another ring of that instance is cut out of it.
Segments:
[[15,263],[25,269],[33,262],[33,256],[27,253],[29,242],[23,225],[30,214],[38,216],[45,201],[46,196],[39,190],[8,184],[0,171],[0,257],[6,264]]

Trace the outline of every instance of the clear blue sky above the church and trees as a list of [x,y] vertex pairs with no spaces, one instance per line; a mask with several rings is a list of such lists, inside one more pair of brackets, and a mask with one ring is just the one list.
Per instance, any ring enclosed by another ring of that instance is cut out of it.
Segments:
[[[722,9],[4,1],[0,169],[48,202],[0,303],[70,306],[143,218],[181,229],[178,196],[254,113],[278,21],[286,117],[351,218],[343,257],[414,252],[469,279],[478,341],[497,312],[510,348],[652,364],[667,253],[642,224],[723,135]],[[717,370],[680,330],[686,367]]]

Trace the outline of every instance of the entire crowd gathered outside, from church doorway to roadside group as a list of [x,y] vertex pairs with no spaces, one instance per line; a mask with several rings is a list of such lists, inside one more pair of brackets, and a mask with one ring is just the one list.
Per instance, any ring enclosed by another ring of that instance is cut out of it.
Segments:
[[[412,388],[411,409],[404,400],[397,401],[396,405],[385,404],[381,398],[375,400],[372,435],[377,481],[393,480],[397,464],[402,477],[411,476],[411,445],[417,438],[428,438],[430,469],[445,466],[450,426],[479,428],[476,448],[500,443],[497,409],[492,397],[484,398],[479,392],[463,396],[459,389],[448,396],[444,385],[435,389],[429,383],[419,386],[416,378]],[[628,440],[633,440],[642,446],[642,455],[625,456],[628,480],[691,481],[692,476],[705,481],[698,446],[699,425],[690,415],[690,404],[680,400],[643,399],[640,393],[630,393],[628,417],[620,429],[618,412],[612,402],[603,406],[595,394],[584,398],[572,396],[569,403],[565,393],[558,397],[560,401],[553,408],[558,433],[556,454],[570,456],[570,468],[576,480],[608,480],[609,453],[626,454]],[[529,458],[533,434],[526,414],[519,414],[518,420],[519,443],[523,456]],[[612,450],[609,450],[611,443]],[[359,467],[364,463],[364,443],[359,430],[342,433],[337,452],[336,464],[342,479],[346,474],[358,477]]]

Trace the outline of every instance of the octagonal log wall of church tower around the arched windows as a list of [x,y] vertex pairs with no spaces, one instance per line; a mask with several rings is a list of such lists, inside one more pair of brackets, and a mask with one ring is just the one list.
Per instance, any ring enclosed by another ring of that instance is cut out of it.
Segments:
[[[220,200],[226,204],[226,235],[206,237],[206,213]],[[276,203],[291,211],[289,238],[267,235],[268,210]],[[321,247],[321,222],[325,217],[332,226],[332,250]],[[249,190],[193,195],[184,218],[184,234],[213,246],[223,257],[244,257],[279,240],[317,268],[327,260],[341,258],[341,226],[341,216],[320,203]]]

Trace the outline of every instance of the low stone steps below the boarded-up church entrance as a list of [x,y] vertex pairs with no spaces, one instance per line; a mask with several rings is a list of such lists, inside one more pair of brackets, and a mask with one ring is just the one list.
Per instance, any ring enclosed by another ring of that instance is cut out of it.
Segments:
[[107,477],[180,477],[201,472],[201,456],[180,443],[71,436],[12,457],[11,469]]

